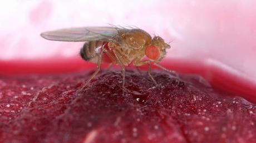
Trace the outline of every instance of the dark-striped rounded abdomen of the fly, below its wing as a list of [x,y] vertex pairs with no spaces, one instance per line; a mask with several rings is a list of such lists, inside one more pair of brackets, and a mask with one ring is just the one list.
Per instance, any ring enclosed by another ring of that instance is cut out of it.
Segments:
[[103,47],[104,42],[100,40],[86,42],[80,50],[80,55],[83,59],[93,62],[97,58],[99,52],[101,51],[100,47]]

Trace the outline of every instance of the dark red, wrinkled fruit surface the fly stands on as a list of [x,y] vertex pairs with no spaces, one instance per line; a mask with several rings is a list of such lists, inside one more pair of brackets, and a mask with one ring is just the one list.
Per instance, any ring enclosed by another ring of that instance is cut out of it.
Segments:
[[0,142],[256,142],[256,106],[198,75],[0,76]]

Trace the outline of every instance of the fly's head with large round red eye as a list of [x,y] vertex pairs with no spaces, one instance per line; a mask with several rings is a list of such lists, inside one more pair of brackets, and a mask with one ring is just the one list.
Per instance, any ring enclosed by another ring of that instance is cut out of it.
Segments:
[[166,54],[165,49],[169,49],[170,45],[164,42],[164,39],[155,36],[149,47],[146,48],[145,54],[147,58],[151,59],[153,62],[159,63]]

